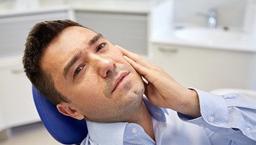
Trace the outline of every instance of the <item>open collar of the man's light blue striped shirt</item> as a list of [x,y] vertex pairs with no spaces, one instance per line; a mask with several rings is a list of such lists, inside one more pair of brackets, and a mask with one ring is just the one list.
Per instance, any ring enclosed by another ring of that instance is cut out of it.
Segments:
[[[143,97],[143,101],[152,117],[157,121],[166,122],[165,113],[168,114],[166,109],[151,104],[145,96]],[[90,139],[97,144],[123,144],[123,140],[125,140],[125,130],[130,127],[127,122],[86,122],[88,135],[90,136]]]

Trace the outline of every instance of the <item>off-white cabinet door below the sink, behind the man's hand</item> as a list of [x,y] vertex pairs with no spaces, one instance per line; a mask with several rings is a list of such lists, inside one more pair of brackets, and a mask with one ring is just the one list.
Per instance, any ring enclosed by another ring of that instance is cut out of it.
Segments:
[[202,90],[253,89],[255,53],[154,45],[154,63],[177,82]]

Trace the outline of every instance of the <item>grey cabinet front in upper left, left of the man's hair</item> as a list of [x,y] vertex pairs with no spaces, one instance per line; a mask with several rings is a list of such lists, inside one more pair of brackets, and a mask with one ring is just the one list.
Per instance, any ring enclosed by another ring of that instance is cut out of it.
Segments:
[[22,55],[27,35],[35,23],[67,18],[67,10],[1,15],[0,57]]

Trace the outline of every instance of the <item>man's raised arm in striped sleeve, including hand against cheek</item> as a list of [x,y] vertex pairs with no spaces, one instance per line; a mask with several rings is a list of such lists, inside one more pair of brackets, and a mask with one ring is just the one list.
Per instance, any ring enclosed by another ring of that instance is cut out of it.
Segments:
[[123,48],[120,50],[131,66],[147,79],[145,95],[151,103],[175,110],[184,121],[203,125],[228,139],[255,143],[256,103],[253,100],[184,88],[143,57]]

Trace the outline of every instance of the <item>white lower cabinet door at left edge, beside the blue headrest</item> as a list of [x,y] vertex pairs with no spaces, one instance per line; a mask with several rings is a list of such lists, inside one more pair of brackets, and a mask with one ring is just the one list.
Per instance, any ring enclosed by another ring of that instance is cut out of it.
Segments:
[[6,128],[40,121],[22,63],[0,68],[0,108]]

